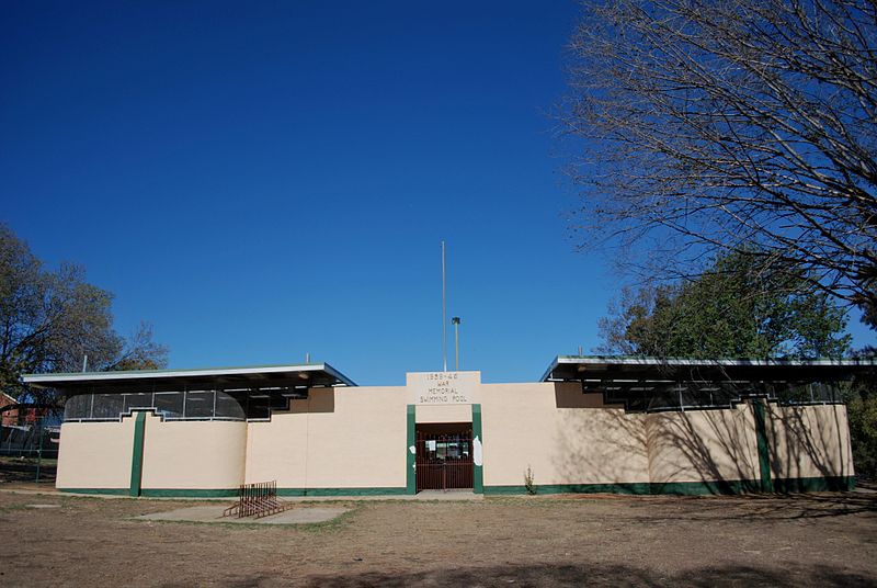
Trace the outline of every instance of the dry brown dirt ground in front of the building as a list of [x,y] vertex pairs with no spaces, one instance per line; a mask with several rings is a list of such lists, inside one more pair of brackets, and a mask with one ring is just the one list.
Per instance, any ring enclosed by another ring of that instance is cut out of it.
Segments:
[[308,527],[133,520],[195,504],[0,491],[0,586],[877,586],[874,491],[340,502],[353,510]]

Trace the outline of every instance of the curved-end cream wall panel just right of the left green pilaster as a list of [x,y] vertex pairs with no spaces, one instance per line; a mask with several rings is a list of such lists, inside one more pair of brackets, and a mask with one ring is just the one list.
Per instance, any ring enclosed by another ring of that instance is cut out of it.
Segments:
[[144,431],[144,489],[224,489],[243,483],[247,423],[162,421],[151,414]]

